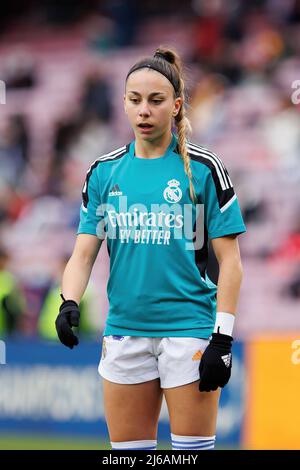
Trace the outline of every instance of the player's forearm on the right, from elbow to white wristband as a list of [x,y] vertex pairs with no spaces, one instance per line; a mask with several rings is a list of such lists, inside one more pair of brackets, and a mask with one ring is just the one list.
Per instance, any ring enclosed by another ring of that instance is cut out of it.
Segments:
[[235,315],[243,278],[243,268],[239,259],[224,259],[220,265],[217,312],[228,312]]

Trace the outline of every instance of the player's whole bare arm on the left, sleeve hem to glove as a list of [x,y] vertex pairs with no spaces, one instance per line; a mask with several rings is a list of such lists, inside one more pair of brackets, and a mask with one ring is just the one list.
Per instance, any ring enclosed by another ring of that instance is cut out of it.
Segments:
[[62,294],[66,300],[79,304],[83,296],[102,240],[95,235],[79,234],[62,279]]

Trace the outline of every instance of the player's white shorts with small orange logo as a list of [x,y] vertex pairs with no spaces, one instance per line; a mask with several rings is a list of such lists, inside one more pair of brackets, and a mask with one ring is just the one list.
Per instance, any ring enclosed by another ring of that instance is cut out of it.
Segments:
[[110,382],[137,384],[160,379],[161,388],[199,380],[201,356],[208,340],[105,336],[99,374]]

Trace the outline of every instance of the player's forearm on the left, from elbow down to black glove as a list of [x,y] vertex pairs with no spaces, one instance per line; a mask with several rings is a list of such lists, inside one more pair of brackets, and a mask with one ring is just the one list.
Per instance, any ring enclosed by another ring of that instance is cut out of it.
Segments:
[[65,299],[80,302],[88,285],[92,268],[91,259],[76,254],[71,256],[62,278],[62,294]]

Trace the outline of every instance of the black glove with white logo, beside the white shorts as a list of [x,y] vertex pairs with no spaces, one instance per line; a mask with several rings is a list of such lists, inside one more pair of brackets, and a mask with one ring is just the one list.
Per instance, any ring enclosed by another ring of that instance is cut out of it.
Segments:
[[230,379],[233,338],[213,333],[200,361],[200,392],[210,392],[224,387]]

